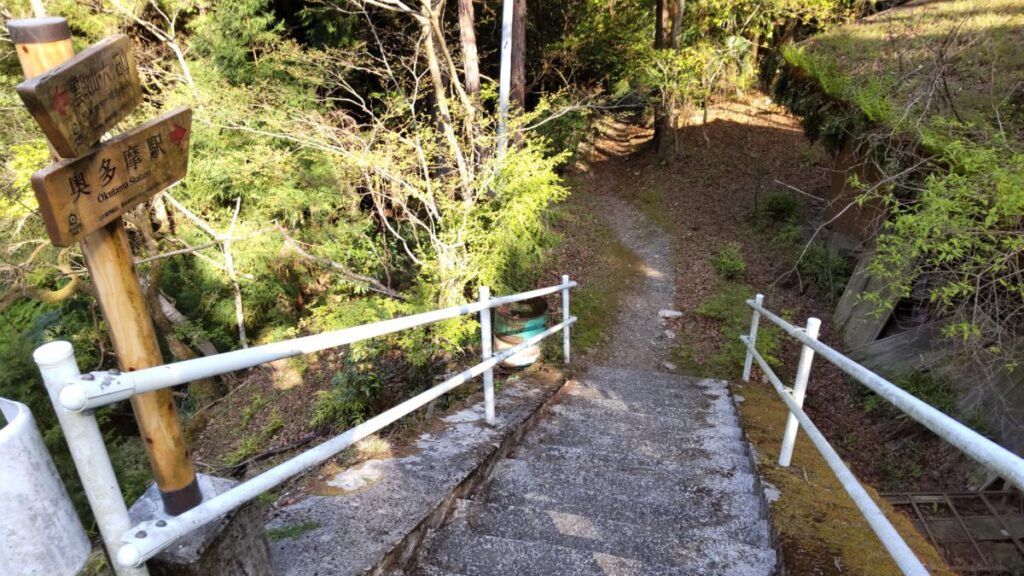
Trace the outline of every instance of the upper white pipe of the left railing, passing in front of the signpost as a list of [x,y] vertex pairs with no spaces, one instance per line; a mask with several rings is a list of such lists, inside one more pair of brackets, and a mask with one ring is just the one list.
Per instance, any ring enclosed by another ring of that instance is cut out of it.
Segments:
[[[104,372],[95,372],[93,373],[94,379],[92,381],[77,378],[71,385],[65,386],[61,390],[60,402],[66,408],[74,411],[98,408],[126,400],[136,394],[176,386],[195,380],[202,380],[228,372],[252,368],[275,360],[351,344],[440,320],[476,314],[488,307],[494,308],[520,300],[547,296],[548,294],[553,294],[565,288],[574,288],[575,286],[575,282],[569,282],[568,284],[539,288],[521,294],[492,298],[488,302],[477,301],[451,306],[438,311],[374,322],[362,326],[344,328],[324,334],[303,336],[283,342],[226,352],[216,356],[144,368],[116,376]],[[109,383],[100,385],[100,381]]]

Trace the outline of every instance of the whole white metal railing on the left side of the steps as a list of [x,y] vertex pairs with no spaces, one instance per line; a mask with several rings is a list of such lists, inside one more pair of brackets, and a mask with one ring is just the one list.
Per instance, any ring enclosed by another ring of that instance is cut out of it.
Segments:
[[[494,368],[544,338],[561,331],[563,355],[569,362],[569,326],[575,317],[569,315],[569,289],[577,286],[568,276],[561,284],[492,298],[486,287],[480,287],[477,302],[365,324],[292,340],[233,351],[184,362],[121,373],[117,370],[81,374],[69,342],[56,341],[36,349],[47,393],[57,413],[60,427],[71,449],[72,458],[89,500],[96,524],[114,563],[118,576],[142,576],[147,571],[143,563],[169,546],[176,539],[203,527],[217,518],[253,500],[289,478],[327,461],[356,441],[370,436],[399,418],[425,406],[459,385],[483,375],[486,421],[496,422]],[[523,342],[492,354],[490,310],[528,298],[561,292],[562,322]],[[401,330],[449,320],[469,314],[480,314],[481,362],[420,393],[401,404],[370,418],[361,424],[306,450],[234,488],[204,500],[200,505],[179,516],[162,516],[132,526],[128,509],[121,496],[110,455],[93,410],[134,395],[184,384],[193,380],[252,368],[275,360],[337,347]]]

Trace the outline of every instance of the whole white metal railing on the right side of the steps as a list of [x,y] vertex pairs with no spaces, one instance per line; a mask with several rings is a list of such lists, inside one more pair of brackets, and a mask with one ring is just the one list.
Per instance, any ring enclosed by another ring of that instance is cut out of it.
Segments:
[[[1018,489],[1024,490],[1024,459],[819,341],[818,329],[821,326],[821,321],[817,318],[808,319],[806,328],[798,328],[766,310],[763,302],[764,296],[761,294],[752,300],[746,300],[746,305],[754,310],[754,316],[751,319],[750,334],[739,336],[739,339],[746,346],[743,380],[750,381],[753,362],[757,361],[758,366],[768,377],[768,381],[771,382],[779,398],[788,408],[790,415],[782,436],[779,464],[790,465],[794,444],[797,440],[797,430],[803,426],[808,439],[824,457],[828,467],[843,485],[843,489],[853,499],[870,525],[871,530],[882,540],[882,544],[904,574],[927,575],[928,570],[803,410],[807,382],[811,373],[811,363],[815,354],[820,355],[837,368],[867,386],[871,392],[886,399],[893,406],[958,448],[978,463],[998,474]],[[793,388],[782,384],[782,381],[757,351],[758,325],[762,316],[804,344],[800,353],[800,363],[797,367]]]

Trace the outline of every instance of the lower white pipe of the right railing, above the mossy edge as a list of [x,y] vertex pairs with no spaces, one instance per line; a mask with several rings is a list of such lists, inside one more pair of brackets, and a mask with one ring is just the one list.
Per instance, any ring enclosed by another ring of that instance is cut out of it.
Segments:
[[871,496],[860,485],[860,482],[857,481],[857,477],[853,476],[850,468],[843,462],[843,458],[828,444],[828,441],[825,440],[825,437],[818,427],[814,425],[814,422],[807,416],[807,413],[800,407],[796,399],[785,389],[781,380],[778,379],[778,376],[768,366],[765,359],[754,348],[746,336],[740,336],[739,338],[746,345],[746,349],[753,354],[754,359],[758,362],[758,366],[768,376],[768,381],[771,382],[775,388],[775,393],[778,394],[778,397],[782,399],[782,402],[790,409],[790,414],[795,416],[800,424],[804,426],[807,438],[810,439],[814,447],[821,453],[821,456],[825,459],[825,463],[828,464],[833,474],[839,479],[840,484],[843,485],[846,493],[850,495],[853,503],[860,509],[871,530],[879,536],[879,540],[882,541],[882,545],[889,551],[896,566],[899,567],[903,574],[908,576],[928,576],[928,569],[918,560],[913,550],[910,549],[910,546],[903,540],[903,537],[896,531],[892,523],[889,522],[882,508],[874,503]]

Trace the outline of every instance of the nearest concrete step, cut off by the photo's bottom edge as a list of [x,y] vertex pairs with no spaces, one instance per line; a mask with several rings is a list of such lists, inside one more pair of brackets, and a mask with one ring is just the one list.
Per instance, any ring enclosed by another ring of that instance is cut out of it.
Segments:
[[452,526],[431,543],[430,564],[473,576],[696,576],[686,568],[578,550],[546,542],[474,534]]

